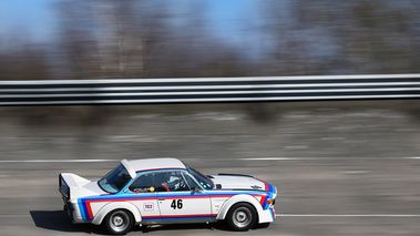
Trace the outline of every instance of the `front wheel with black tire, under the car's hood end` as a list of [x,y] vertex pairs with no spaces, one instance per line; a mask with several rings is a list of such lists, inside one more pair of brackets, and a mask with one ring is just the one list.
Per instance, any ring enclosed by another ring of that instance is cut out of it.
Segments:
[[226,220],[235,232],[246,232],[257,222],[257,212],[248,203],[237,203],[227,213]]

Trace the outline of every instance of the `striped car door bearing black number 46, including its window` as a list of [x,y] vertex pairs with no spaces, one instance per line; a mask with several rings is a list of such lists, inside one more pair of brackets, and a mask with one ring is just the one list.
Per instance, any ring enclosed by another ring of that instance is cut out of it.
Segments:
[[198,185],[185,172],[155,173],[155,186],[162,220],[211,219],[208,194],[196,191]]

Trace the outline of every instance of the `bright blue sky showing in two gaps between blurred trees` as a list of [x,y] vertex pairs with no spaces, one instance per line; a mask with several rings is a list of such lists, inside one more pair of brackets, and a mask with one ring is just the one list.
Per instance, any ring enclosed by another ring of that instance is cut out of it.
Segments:
[[[0,0],[0,42],[19,39],[32,43],[51,42],[59,27],[59,16],[54,9],[54,3],[59,1]],[[253,34],[244,25],[253,27],[249,16],[255,16],[258,0],[189,1],[201,1],[206,6],[208,30],[221,40],[232,43],[252,40]]]

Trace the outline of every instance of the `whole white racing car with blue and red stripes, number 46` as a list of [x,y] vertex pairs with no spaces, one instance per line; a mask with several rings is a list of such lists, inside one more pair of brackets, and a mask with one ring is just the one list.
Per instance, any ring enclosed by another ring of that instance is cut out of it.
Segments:
[[100,181],[61,173],[59,189],[73,223],[103,224],[112,234],[223,219],[247,230],[276,218],[275,186],[249,175],[203,175],[177,158],[123,160]]

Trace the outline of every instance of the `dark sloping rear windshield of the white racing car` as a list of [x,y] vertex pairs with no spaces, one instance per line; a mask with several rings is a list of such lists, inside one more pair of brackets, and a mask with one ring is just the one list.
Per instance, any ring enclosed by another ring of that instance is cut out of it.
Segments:
[[103,191],[115,194],[119,193],[130,181],[131,176],[126,168],[123,165],[119,165],[101,178],[98,184]]

